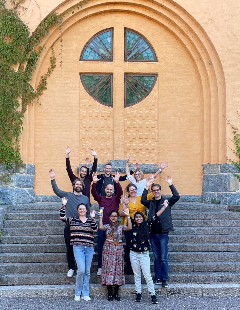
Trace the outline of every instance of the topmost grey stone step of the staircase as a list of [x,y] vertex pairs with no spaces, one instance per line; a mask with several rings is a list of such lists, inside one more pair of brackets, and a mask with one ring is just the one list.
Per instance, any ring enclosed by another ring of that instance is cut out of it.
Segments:
[[[13,210],[60,210],[61,202],[37,202],[23,205],[13,206]],[[98,210],[99,205],[93,203],[91,208]],[[196,210],[196,211],[227,211],[227,205],[213,205],[205,204],[200,202],[189,203],[189,202],[177,202],[172,206],[172,210]]]

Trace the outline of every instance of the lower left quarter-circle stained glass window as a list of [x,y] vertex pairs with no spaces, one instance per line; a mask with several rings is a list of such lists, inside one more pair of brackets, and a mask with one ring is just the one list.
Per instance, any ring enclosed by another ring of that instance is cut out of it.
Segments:
[[113,75],[112,74],[80,74],[82,84],[88,94],[101,104],[113,106]]

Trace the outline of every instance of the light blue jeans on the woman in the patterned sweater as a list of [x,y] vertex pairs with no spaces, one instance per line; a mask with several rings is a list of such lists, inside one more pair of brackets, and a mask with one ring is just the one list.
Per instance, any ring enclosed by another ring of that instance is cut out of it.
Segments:
[[89,296],[90,268],[93,258],[94,248],[76,244],[73,246],[74,257],[78,270],[76,277],[76,296]]

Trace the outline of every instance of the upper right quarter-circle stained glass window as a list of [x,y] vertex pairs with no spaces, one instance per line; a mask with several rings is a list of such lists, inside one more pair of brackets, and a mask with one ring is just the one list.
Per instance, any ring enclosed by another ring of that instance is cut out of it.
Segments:
[[149,41],[140,33],[125,28],[125,61],[158,61]]

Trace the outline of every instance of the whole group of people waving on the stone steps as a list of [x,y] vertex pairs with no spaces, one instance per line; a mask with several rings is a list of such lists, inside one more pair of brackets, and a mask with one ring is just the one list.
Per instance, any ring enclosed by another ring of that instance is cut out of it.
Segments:
[[[49,174],[54,193],[62,198],[60,219],[64,221],[64,239],[67,249],[68,277],[72,277],[77,264],[75,300],[91,300],[89,297],[89,279],[91,262],[94,255],[94,236],[97,232],[97,275],[102,277],[102,285],[107,286],[108,300],[120,300],[118,290],[125,284],[125,274],[133,274],[136,288],[136,302],[141,301],[141,271],[151,294],[152,303],[158,303],[154,285],[168,286],[167,244],[168,232],[173,230],[171,206],[179,200],[179,193],[172,184],[171,176],[166,177],[172,196],[164,199],[161,186],[154,183],[156,176],[168,166],[160,163],[158,171],[147,179],[138,168],[138,163],[130,171],[126,161],[126,175],[120,172],[112,175],[112,165],[106,164],[104,174],[97,175],[97,153],[94,156],[91,173],[91,160],[86,158],[86,165],[80,167],[79,177],[73,174],[69,153],[66,147],[66,167],[73,185],[73,192],[64,192],[57,187],[55,171]],[[123,195],[121,181],[129,179],[126,194]],[[91,188],[91,182],[92,188]],[[99,225],[97,226],[95,210],[90,211],[90,188],[94,199],[100,207]],[[149,188],[151,192],[149,193]],[[120,206],[119,206],[120,204]],[[149,210],[146,215],[146,208]],[[118,216],[122,217],[121,223]],[[125,236],[125,270],[122,234]],[[150,273],[149,239],[154,255],[153,281]],[[112,292],[114,286],[114,293]]]

